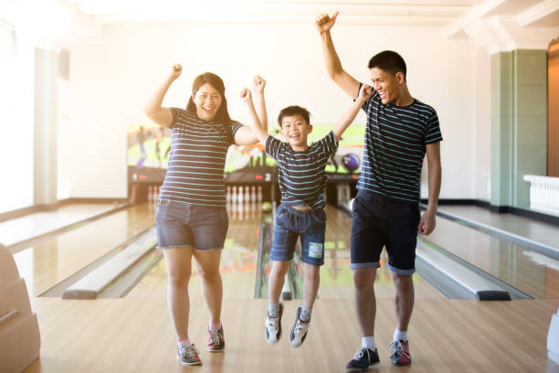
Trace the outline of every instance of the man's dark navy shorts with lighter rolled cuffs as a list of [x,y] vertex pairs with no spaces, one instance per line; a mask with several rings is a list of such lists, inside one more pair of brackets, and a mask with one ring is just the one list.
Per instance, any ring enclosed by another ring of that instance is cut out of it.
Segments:
[[416,272],[419,218],[417,203],[360,190],[353,200],[350,268],[380,267],[385,247],[390,271]]

